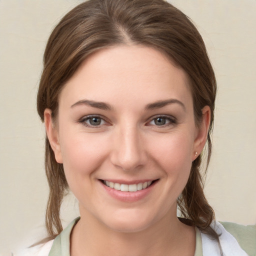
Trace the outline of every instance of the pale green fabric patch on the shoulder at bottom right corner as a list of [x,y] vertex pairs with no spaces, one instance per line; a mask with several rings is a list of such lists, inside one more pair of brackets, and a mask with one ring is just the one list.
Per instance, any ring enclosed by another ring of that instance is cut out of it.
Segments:
[[245,226],[232,222],[221,222],[221,224],[249,256],[256,255],[256,225]]

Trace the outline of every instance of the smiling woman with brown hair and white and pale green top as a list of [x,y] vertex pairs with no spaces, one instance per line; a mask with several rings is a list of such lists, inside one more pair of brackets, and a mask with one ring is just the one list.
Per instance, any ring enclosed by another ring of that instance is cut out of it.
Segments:
[[[50,188],[40,255],[255,250],[253,230],[229,227],[243,234],[236,240],[203,195],[215,93],[200,34],[169,3],[89,0],[67,13],[49,37],[37,94]],[[80,218],[62,231],[69,188]]]

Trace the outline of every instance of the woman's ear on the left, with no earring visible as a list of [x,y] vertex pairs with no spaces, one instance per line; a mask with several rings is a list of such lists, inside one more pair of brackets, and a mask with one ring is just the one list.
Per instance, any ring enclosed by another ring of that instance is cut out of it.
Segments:
[[45,108],[44,110],[44,125],[55,159],[58,163],[63,163],[58,139],[58,130],[53,123],[51,110],[49,108]]

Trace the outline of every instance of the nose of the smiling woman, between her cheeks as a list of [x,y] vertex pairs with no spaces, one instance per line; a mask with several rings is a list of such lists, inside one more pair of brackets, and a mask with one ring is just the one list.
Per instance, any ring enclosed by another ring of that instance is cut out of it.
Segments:
[[145,165],[145,144],[138,128],[126,126],[114,132],[110,160],[113,165],[126,171],[137,170]]

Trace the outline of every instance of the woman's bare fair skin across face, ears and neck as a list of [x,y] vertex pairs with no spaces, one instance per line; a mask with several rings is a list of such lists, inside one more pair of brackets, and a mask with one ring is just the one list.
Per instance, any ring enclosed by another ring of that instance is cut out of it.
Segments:
[[[196,125],[185,72],[153,48],[118,45],[86,58],[59,95],[57,120],[44,112],[56,161],[79,201],[72,256],[194,255],[194,228],[177,219],[176,199],[206,140],[209,107],[202,113]],[[157,182],[127,201],[100,181],[117,179]]]

